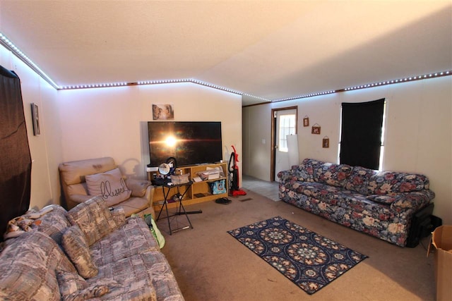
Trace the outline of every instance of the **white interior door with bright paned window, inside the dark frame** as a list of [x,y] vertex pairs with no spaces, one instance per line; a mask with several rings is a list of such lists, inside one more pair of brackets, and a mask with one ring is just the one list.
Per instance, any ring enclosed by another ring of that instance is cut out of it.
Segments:
[[[287,135],[297,133],[297,110],[275,111],[275,181],[279,181],[278,173],[290,169]],[[297,146],[298,149],[298,146]],[[298,151],[297,151],[298,152]]]

